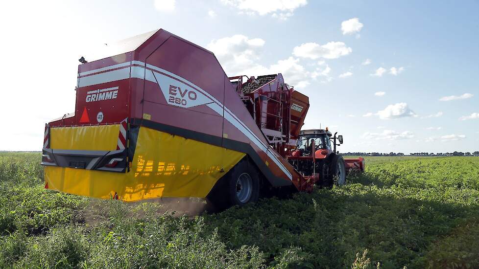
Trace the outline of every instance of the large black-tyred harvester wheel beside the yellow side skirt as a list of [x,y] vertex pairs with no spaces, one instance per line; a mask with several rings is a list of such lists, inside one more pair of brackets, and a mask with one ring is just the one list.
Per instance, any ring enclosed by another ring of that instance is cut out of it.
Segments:
[[217,210],[256,202],[260,196],[260,179],[256,169],[246,159],[239,161],[216,182],[207,196]]

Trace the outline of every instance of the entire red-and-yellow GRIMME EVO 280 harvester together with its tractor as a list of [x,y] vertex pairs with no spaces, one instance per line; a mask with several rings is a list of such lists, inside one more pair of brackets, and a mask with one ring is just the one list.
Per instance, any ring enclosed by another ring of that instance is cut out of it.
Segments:
[[281,74],[228,77],[212,52],[162,29],[108,47],[110,57],[80,59],[75,112],[46,125],[46,188],[226,207],[364,168],[331,149],[329,131],[300,132],[309,98]]

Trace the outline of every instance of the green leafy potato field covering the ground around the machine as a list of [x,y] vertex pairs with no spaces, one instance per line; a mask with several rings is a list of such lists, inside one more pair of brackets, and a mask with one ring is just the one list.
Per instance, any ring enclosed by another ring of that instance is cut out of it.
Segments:
[[0,154],[0,268],[479,268],[478,157],[369,157],[345,186],[196,217],[47,190],[39,162]]

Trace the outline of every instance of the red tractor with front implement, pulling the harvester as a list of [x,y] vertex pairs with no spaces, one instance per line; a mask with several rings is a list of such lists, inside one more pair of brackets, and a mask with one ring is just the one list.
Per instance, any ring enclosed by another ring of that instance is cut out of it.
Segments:
[[333,184],[345,184],[346,172],[352,169],[364,171],[364,158],[344,159],[340,156],[336,146],[343,143],[343,136],[336,134],[333,135],[327,127],[326,130],[302,130],[298,135],[297,148],[287,156],[288,162],[316,185],[331,187]]

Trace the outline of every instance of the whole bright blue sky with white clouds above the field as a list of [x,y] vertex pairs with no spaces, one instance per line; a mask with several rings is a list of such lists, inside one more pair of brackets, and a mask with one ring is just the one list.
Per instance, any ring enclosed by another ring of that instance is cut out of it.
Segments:
[[339,131],[342,152],[477,151],[478,13],[472,0],[2,3],[0,150],[40,150],[45,122],[74,110],[92,46],[164,28],[228,75],[283,73],[310,96],[304,128]]

